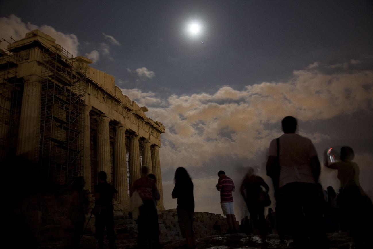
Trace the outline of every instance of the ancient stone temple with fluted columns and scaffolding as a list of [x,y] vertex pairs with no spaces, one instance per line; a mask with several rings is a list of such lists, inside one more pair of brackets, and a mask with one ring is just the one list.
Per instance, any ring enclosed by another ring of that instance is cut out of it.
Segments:
[[[1,42],[7,42],[2,40]],[[73,57],[39,30],[0,51],[0,159],[23,156],[56,184],[84,176],[89,191],[105,171],[126,206],[129,188],[146,165],[156,175],[164,125],[145,115],[114,77]]]

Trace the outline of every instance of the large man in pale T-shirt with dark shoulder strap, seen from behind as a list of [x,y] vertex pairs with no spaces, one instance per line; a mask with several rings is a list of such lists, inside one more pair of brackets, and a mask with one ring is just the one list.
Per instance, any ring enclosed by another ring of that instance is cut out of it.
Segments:
[[[267,168],[279,156],[279,189],[276,193],[276,219],[279,233],[290,232],[298,248],[327,248],[322,202],[315,183],[320,176],[320,161],[311,140],[295,133],[297,120],[282,119],[284,134],[269,146]],[[287,228],[287,229],[286,229]]]

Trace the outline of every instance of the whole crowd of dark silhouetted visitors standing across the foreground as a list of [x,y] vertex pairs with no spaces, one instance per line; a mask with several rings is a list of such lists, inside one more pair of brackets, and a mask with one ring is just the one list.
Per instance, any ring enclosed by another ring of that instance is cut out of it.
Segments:
[[[330,162],[327,159],[329,158],[327,151],[325,152],[323,164],[337,171],[340,184],[338,191],[332,186],[324,190],[319,182],[321,165],[313,143],[310,139],[296,133],[297,120],[294,117],[286,116],[281,125],[283,134],[271,141],[266,164],[267,175],[272,178],[275,190],[275,200],[272,200],[275,211],[269,208],[267,217],[264,216],[265,207],[271,204],[268,195],[270,187],[263,178],[255,174],[253,168],[248,167],[240,192],[250,216],[245,216],[241,220],[241,232],[260,235],[263,243],[266,242],[269,233],[277,233],[281,241],[289,235],[294,241],[294,247],[303,249],[329,248],[327,233],[348,231],[355,241],[356,248],[370,248],[369,239],[373,234],[373,204],[360,186],[360,170],[353,161],[355,156],[353,149],[348,146],[342,147],[340,160],[335,162]],[[35,175],[37,178],[37,174],[33,172],[29,175]],[[216,189],[220,192],[220,206],[227,218],[226,233],[237,233],[232,196],[235,185],[224,171],[219,171],[218,176]],[[98,184],[94,187],[95,207],[92,210],[95,216],[95,237],[99,249],[104,248],[106,230],[109,249],[113,249],[115,248],[113,194],[117,193],[117,190],[107,182],[106,172],[98,172],[97,177]],[[27,179],[29,178],[25,174],[25,183],[28,182]],[[136,192],[141,199],[141,205],[138,206],[139,214],[136,217],[138,248],[161,247],[156,208],[160,193],[156,180],[155,175],[148,174],[148,168],[142,166],[141,178],[134,181],[130,188],[130,197]],[[184,167],[176,169],[174,183],[172,198],[177,198],[176,209],[180,231],[186,240],[185,246],[195,248],[193,182]],[[39,191],[35,186],[34,190],[30,190],[27,194]],[[81,176],[76,177],[71,185],[72,202],[68,218],[73,226],[72,248],[79,247],[84,233],[85,216],[88,212],[88,197],[84,186],[85,180]],[[21,196],[19,200],[14,200],[13,205],[9,207],[10,218],[6,217],[5,222],[9,224],[10,235],[11,231],[16,229],[11,225],[11,220],[17,220],[20,224],[24,222],[24,214],[20,207],[27,194]],[[10,196],[8,199],[14,198]],[[34,237],[30,239],[32,240]],[[30,247],[33,248],[33,245],[30,244]]]

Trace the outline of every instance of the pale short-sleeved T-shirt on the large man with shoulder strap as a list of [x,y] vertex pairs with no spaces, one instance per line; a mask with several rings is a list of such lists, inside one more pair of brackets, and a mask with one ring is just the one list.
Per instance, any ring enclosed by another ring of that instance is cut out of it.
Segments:
[[[279,140],[279,187],[296,181],[314,183],[310,158],[317,156],[317,152],[311,140],[295,133],[283,134]],[[269,156],[277,156],[276,139],[270,143]]]

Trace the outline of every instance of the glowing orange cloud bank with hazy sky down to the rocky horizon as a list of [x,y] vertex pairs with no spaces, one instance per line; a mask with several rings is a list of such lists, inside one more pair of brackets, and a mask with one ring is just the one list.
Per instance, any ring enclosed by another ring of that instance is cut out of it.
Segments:
[[[196,210],[221,213],[219,193],[214,189],[217,177],[211,175],[224,169],[231,172],[239,187],[247,163],[256,162],[257,172],[265,177],[263,155],[270,141],[282,134],[280,120],[284,116],[295,116],[304,124],[317,121],[327,124],[330,119],[356,112],[372,116],[373,71],[354,68],[359,64],[357,61],[350,60],[344,62],[347,66],[334,68],[315,62],[294,71],[287,81],[247,85],[242,90],[226,85],[213,93],[161,97],[138,88],[122,89],[123,94],[140,106],[148,106],[147,114],[153,120],[166,126],[160,149],[166,208],[176,207],[175,200],[169,196],[173,188],[171,179],[175,169],[183,166],[194,178]],[[335,139],[334,134],[317,129],[300,127],[299,133],[314,143],[332,143]],[[319,157],[322,159],[322,155]],[[355,161],[362,164],[364,175],[373,174],[372,169],[363,165],[365,159],[372,163],[372,158],[371,154],[357,153]],[[240,160],[244,162],[242,165],[233,165]],[[373,189],[366,178],[362,177],[363,187]],[[324,187],[332,185],[338,190],[335,172],[323,169],[321,180],[327,184]],[[245,204],[241,199],[236,193],[235,202],[239,204],[235,209],[244,214]],[[211,203],[218,208],[212,208]]]

